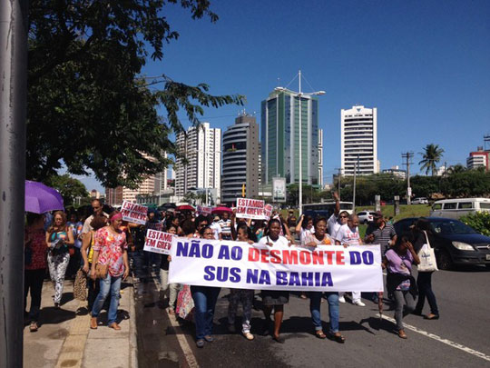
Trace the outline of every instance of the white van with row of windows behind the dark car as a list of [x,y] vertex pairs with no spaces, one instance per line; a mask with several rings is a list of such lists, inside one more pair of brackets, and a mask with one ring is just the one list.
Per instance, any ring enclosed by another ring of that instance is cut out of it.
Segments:
[[432,204],[431,217],[458,219],[474,212],[490,212],[489,198],[443,199]]

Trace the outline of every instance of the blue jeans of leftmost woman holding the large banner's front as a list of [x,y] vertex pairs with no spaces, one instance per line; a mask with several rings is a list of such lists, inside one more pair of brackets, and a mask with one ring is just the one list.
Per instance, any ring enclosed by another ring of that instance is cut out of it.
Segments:
[[220,287],[191,286],[191,294],[195,305],[196,339],[201,340],[212,333],[214,307],[218,301]]

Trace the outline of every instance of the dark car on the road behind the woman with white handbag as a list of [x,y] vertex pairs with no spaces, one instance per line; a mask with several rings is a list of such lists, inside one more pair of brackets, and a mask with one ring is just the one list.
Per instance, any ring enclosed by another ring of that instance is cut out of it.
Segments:
[[[417,217],[397,221],[398,236],[410,235],[410,226]],[[490,237],[478,234],[470,226],[449,218],[426,217],[430,223],[434,240],[431,246],[436,253],[437,267],[448,270],[454,264],[485,264],[490,267]]]

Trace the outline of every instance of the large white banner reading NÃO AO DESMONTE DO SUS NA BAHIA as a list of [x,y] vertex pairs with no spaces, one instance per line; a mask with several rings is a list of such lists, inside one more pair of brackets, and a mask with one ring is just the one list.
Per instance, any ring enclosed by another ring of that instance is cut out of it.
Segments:
[[382,292],[379,245],[249,245],[174,237],[169,283],[253,290]]

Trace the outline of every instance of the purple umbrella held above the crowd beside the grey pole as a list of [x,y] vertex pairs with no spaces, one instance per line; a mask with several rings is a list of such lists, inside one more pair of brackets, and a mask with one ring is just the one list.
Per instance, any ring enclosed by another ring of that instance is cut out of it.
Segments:
[[54,210],[64,211],[63,197],[43,183],[25,181],[25,212],[44,214]]

